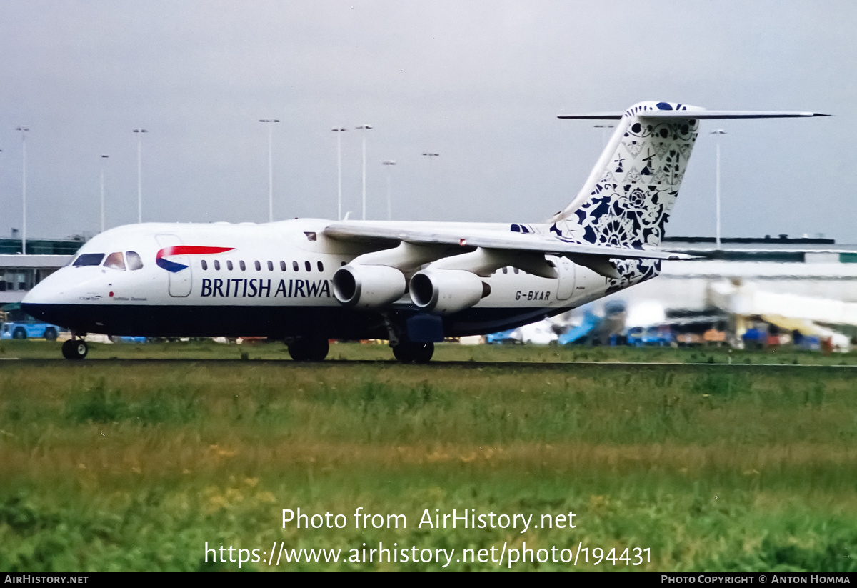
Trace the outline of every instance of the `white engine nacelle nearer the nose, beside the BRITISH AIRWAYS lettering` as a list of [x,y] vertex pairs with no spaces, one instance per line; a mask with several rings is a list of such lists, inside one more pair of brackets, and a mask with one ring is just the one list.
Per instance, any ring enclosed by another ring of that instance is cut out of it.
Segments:
[[345,266],[333,274],[333,296],[355,309],[377,309],[405,294],[405,274],[389,266]]

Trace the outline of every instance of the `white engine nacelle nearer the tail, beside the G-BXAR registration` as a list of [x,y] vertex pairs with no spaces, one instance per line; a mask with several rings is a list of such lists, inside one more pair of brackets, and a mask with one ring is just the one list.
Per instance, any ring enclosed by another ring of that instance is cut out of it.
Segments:
[[449,315],[470,308],[491,293],[475,273],[462,269],[427,269],[417,272],[408,286],[411,300],[423,310]]

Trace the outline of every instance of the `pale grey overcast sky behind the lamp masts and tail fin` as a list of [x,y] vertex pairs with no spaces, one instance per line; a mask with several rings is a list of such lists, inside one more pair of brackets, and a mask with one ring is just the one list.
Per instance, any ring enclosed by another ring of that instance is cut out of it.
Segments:
[[[0,235],[144,221],[546,219],[602,148],[592,122],[643,100],[833,118],[703,123],[668,235],[824,233],[857,243],[857,3],[0,0]],[[424,152],[440,153],[428,158]],[[101,155],[109,155],[102,160]],[[393,159],[395,166],[381,161]]]

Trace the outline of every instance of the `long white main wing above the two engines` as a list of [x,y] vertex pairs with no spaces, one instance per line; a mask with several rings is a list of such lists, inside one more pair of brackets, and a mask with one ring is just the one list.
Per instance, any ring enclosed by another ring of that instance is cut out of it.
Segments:
[[382,223],[334,223],[328,225],[323,232],[326,237],[340,241],[384,242],[390,245],[401,242],[417,245],[452,245],[466,248],[530,251],[546,255],[591,255],[620,260],[693,259],[693,255],[662,249],[630,249],[608,247],[607,245],[580,244],[548,235],[491,231],[480,228],[469,229],[466,225],[460,230],[444,228],[434,231]]

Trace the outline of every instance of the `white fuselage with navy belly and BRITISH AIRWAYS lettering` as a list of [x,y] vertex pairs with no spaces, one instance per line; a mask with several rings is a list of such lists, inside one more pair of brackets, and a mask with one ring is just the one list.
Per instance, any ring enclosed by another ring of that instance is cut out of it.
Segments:
[[[93,265],[63,267],[23,303],[30,314],[79,333],[280,338],[311,331],[329,338],[387,338],[390,321],[405,321],[419,309],[407,293],[384,309],[348,309],[339,303],[333,274],[377,250],[378,244],[325,237],[322,231],[329,224],[296,219],[264,225],[117,227],[86,243],[73,262],[88,259]],[[396,226],[508,231],[509,225]],[[112,263],[111,254],[118,254]],[[133,267],[132,254],[139,256],[141,267]],[[482,278],[488,295],[444,316],[445,336],[517,327],[604,295],[607,279],[565,258],[552,259],[559,278],[539,278],[512,267]]]

